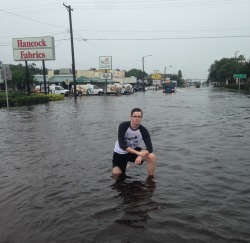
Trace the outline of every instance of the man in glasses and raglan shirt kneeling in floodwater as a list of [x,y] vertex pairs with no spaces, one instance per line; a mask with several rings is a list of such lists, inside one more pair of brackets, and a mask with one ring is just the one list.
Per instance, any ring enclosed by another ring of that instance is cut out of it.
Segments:
[[[112,173],[115,178],[126,176],[127,163],[134,162],[141,165],[148,163],[148,176],[154,176],[156,156],[148,130],[141,125],[143,112],[140,108],[131,111],[130,121],[122,122],[118,128],[118,140],[113,153]],[[144,141],[146,149],[138,147]]]

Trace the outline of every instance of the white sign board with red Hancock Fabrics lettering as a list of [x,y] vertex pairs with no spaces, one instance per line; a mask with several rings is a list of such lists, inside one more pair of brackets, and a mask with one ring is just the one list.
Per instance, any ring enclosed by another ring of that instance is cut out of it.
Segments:
[[14,61],[55,60],[54,37],[13,38]]

